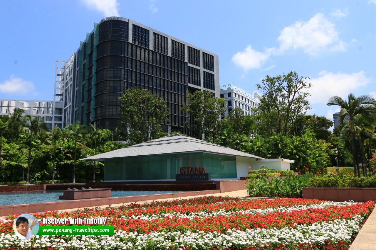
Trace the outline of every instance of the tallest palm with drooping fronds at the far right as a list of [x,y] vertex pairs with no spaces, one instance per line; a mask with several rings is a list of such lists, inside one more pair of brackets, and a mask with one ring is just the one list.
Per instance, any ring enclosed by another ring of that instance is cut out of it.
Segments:
[[372,95],[361,95],[355,97],[352,93],[349,94],[348,101],[345,101],[340,96],[332,96],[329,98],[328,106],[338,105],[341,107],[340,111],[340,126],[343,125],[343,120],[346,117],[350,119],[350,134],[352,142],[352,153],[353,153],[353,167],[354,167],[354,177],[357,176],[356,166],[357,166],[357,157],[356,157],[356,137],[354,130],[354,117],[358,114],[362,114],[367,117],[373,113],[376,113],[376,99]]

